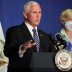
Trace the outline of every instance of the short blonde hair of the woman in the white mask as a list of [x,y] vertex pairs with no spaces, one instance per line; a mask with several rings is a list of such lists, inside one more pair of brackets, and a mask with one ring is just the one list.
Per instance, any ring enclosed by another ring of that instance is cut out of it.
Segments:
[[72,18],[72,9],[66,9],[60,15],[60,20],[62,23],[71,18]]

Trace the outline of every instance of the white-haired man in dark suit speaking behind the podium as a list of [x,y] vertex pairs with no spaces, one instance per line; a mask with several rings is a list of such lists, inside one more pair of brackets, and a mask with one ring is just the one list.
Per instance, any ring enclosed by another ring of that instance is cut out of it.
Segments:
[[[37,27],[41,14],[40,5],[29,1],[23,8],[25,22],[7,30],[4,53],[9,58],[8,71],[25,70],[24,68],[30,65],[32,52],[49,52],[54,48],[48,35]],[[33,29],[38,35],[38,45],[33,36]]]

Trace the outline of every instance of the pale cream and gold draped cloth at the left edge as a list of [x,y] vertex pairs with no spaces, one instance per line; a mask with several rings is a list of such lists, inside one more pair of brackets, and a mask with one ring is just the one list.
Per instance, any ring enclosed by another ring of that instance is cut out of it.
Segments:
[[7,72],[9,59],[4,55],[5,38],[0,22],[0,72]]

